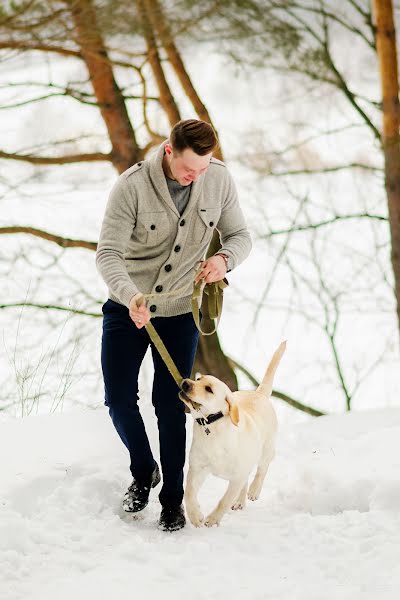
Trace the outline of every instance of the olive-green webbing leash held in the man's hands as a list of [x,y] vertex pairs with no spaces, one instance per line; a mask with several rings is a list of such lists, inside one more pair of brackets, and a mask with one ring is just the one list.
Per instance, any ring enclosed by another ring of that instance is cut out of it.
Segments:
[[[221,319],[222,314],[222,305],[223,305],[223,290],[228,286],[228,281],[226,279],[222,279],[221,281],[214,281],[213,283],[195,283],[193,285],[193,293],[192,293],[192,313],[193,319],[196,324],[197,329],[200,331],[202,335],[212,335],[216,332],[219,321]],[[170,292],[165,295],[172,296],[177,295],[180,290],[175,292]],[[207,302],[203,302],[203,293],[207,296]],[[160,296],[160,294],[157,294]],[[161,294],[164,295],[164,294]],[[136,305],[142,306],[145,303],[145,296],[142,294],[136,300]],[[212,331],[203,331],[200,327],[200,308],[202,307],[204,317],[214,321],[214,329]],[[146,331],[149,334],[151,341],[154,346],[157,348],[158,353],[163,359],[165,366],[168,371],[171,373],[172,377],[175,380],[175,383],[178,387],[181,387],[181,383],[183,381],[182,375],[179,373],[178,368],[167,348],[165,347],[164,342],[158,335],[157,331],[154,328],[154,325],[149,321],[147,325],[145,325]]]

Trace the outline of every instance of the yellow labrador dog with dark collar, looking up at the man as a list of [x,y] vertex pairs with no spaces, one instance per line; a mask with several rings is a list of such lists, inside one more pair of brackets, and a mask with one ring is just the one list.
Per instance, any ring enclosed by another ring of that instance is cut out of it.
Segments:
[[[196,381],[183,380],[179,397],[195,419],[185,490],[187,514],[195,527],[219,525],[229,507],[242,509],[246,497],[259,497],[275,453],[277,420],[270,395],[285,348],[286,342],[282,342],[255,391],[232,393],[211,375],[200,376]],[[254,466],[257,471],[247,493]],[[209,473],[227,479],[229,485],[216,508],[204,519],[197,494]]]

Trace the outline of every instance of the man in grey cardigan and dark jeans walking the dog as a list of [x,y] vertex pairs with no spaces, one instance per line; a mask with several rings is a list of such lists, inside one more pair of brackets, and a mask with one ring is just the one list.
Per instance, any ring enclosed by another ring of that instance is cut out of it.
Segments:
[[[177,385],[144,327],[151,318],[181,375],[189,377],[198,342],[191,293],[199,261],[197,277],[211,283],[223,279],[250,252],[233,180],[225,165],[212,158],[217,144],[208,123],[194,119],[177,123],[154,156],[118,178],[96,253],[109,288],[102,309],[105,404],[129,451],[133,475],[123,507],[128,512],[143,510],[150,488],[160,482],[137,404],[139,369],[150,344],[163,474],[159,528],[165,531],[185,525],[186,415]],[[222,247],[203,260],[214,229]],[[141,293],[155,295],[148,307],[137,306]]]

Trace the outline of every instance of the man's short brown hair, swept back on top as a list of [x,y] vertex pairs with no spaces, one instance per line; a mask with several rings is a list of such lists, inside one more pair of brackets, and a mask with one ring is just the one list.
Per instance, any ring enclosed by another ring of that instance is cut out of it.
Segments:
[[171,131],[169,141],[178,154],[190,148],[200,156],[213,152],[219,143],[214,128],[197,119],[178,121]]

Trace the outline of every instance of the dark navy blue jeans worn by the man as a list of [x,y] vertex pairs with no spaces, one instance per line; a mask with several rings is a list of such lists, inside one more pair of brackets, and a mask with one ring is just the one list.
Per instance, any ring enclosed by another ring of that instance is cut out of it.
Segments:
[[[146,350],[151,345],[154,363],[152,402],[158,422],[163,486],[163,506],[177,506],[183,499],[186,415],[178,398],[178,386],[145,328],[137,329],[126,306],[107,300],[102,307],[103,336],[101,365],[105,405],[121,440],[130,454],[130,469],[138,481],[148,481],[154,458],[138,407],[138,375]],[[151,320],[182,377],[190,377],[198,342],[192,313]]]

